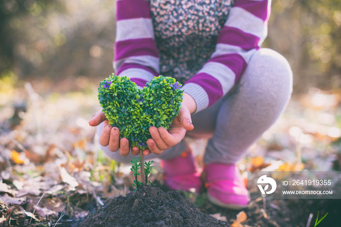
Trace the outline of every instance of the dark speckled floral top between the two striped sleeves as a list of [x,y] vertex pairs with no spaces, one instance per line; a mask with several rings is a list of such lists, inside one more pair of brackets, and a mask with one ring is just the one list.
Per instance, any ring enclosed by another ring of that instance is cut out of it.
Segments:
[[160,74],[189,80],[215,50],[233,0],[151,0]]

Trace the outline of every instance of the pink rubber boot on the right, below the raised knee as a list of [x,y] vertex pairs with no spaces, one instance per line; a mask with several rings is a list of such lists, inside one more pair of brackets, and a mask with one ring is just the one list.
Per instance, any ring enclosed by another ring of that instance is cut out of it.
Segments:
[[248,192],[235,164],[210,163],[205,167],[204,174],[210,202],[233,210],[246,207]]

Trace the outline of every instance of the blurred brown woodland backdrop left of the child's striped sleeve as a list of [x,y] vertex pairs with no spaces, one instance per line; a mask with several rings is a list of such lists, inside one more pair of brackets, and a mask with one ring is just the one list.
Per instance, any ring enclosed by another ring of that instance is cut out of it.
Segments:
[[68,81],[67,89],[109,76],[114,7],[113,0],[1,0],[1,76]]

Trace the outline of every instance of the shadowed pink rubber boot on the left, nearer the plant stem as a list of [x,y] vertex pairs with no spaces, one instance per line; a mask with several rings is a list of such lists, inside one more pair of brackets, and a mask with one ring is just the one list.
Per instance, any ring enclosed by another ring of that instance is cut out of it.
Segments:
[[198,166],[190,151],[184,151],[179,157],[161,162],[165,170],[165,183],[172,190],[200,191],[202,185]]

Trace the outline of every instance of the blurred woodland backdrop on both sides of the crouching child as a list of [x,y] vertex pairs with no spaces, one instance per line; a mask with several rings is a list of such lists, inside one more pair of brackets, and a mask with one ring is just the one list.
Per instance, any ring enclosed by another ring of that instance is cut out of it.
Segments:
[[[294,92],[341,87],[341,1],[273,0],[264,47],[294,71]],[[1,0],[0,77],[69,80],[113,72],[114,0]]]

